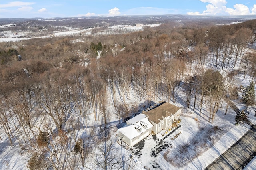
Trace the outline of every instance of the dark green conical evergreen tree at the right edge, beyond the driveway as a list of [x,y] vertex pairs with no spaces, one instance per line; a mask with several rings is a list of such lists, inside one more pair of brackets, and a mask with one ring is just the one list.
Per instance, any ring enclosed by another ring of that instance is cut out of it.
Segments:
[[255,105],[255,90],[253,81],[251,81],[250,85],[244,89],[242,101],[248,106]]

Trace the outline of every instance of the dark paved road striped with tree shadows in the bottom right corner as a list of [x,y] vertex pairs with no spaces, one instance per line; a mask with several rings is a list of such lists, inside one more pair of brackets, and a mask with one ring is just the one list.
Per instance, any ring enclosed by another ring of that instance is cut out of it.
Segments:
[[205,170],[240,170],[256,156],[256,125]]

